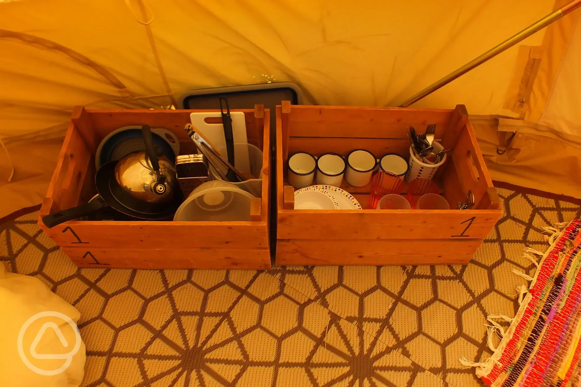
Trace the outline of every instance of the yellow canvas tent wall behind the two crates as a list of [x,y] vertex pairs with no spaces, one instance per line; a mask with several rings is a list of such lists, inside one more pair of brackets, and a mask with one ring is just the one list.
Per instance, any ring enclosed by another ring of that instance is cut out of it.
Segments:
[[[40,203],[75,105],[290,81],[304,103],[397,106],[564,3],[0,0],[0,216]],[[493,179],[581,197],[580,15],[414,107],[465,104]]]

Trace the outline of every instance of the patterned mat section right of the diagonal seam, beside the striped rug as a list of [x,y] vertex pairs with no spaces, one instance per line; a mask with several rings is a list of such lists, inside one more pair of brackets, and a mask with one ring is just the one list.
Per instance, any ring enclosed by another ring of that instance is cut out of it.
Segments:
[[270,273],[449,384],[481,386],[458,358],[491,355],[486,316],[514,316],[525,280],[511,269],[535,269],[523,249],[545,251],[542,227],[581,215],[568,202],[497,191],[504,214],[466,266],[286,266]]

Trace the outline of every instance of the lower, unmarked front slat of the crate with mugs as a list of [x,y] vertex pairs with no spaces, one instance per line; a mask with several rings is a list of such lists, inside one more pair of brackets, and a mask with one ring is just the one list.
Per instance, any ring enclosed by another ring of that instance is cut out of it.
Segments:
[[482,239],[278,240],[275,264],[463,265]]

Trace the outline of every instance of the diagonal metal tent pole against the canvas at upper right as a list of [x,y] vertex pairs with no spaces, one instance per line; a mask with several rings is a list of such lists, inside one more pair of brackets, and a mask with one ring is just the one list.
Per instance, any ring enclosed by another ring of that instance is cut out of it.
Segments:
[[580,6],[581,6],[581,0],[573,0],[572,2],[563,6],[562,8],[555,10],[555,12],[550,13],[549,15],[543,17],[543,19],[536,21],[535,23],[526,27],[521,32],[518,32],[518,34],[513,35],[512,37],[506,39],[501,44],[499,44],[496,47],[483,53],[482,55],[480,55],[476,59],[473,59],[470,62],[468,62],[467,64],[465,64],[464,66],[458,68],[456,71],[453,71],[452,73],[446,75],[446,77],[443,77],[439,81],[436,81],[433,84],[429,85],[421,92],[409,97],[404,102],[402,102],[399,107],[408,107],[411,104],[413,104],[414,102],[418,102],[419,100],[421,100],[425,96],[435,92],[437,89],[441,88],[442,86],[449,84],[451,81],[460,77],[462,74],[468,73],[468,71],[472,70],[472,68],[480,66],[480,64],[486,62],[487,60],[489,60],[490,58],[492,58],[494,56],[497,56],[498,54],[500,54],[504,50],[511,48],[512,46],[514,46],[518,42],[522,41],[525,38],[528,38],[530,35],[534,34],[535,32],[542,30],[544,27],[547,27],[549,24],[553,23],[554,21],[561,19],[561,17],[567,15],[569,12],[572,12],[573,10],[579,8]]

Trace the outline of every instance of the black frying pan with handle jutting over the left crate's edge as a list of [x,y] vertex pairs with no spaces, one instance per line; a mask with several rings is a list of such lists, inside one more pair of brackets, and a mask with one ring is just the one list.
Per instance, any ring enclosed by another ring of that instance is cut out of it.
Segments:
[[[77,207],[64,209],[51,215],[42,217],[42,222],[46,227],[54,227],[67,220],[81,218],[82,216],[93,214],[105,207],[110,207],[121,214],[131,216],[135,219],[142,220],[162,220],[171,218],[181,204],[180,195],[174,195],[174,198],[163,205],[143,202],[131,194],[127,196],[114,196],[113,191],[119,193],[124,191],[115,179],[115,166],[118,161],[109,161],[101,165],[95,174],[95,186],[98,197],[93,198],[87,204],[81,204]],[[179,192],[180,190],[176,190]]]

